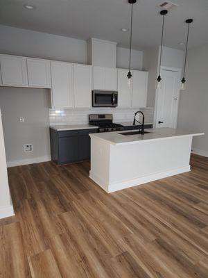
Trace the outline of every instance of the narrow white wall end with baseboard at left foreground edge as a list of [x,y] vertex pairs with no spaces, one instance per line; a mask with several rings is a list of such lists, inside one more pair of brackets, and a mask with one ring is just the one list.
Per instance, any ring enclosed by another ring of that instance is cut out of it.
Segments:
[[10,200],[10,190],[8,187],[8,176],[6,169],[6,156],[3,140],[3,128],[0,110],[0,218],[6,218],[14,214]]

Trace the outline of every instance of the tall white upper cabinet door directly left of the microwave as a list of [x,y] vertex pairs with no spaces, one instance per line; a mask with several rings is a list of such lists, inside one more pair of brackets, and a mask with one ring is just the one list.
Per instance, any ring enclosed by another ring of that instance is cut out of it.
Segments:
[[74,104],[76,108],[92,107],[92,66],[73,64]]

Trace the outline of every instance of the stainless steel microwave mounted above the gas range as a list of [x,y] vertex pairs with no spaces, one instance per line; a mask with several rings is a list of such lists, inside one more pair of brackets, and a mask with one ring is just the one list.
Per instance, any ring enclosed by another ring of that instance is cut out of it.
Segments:
[[118,106],[118,92],[107,90],[92,91],[92,107]]

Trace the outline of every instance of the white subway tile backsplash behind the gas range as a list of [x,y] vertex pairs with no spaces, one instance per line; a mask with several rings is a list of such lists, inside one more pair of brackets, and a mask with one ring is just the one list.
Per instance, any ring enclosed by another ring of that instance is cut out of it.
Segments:
[[[129,122],[139,109],[120,108],[92,108],[92,109],[49,109],[50,125],[56,124],[87,124],[89,114],[113,114],[114,122]],[[144,112],[145,122],[153,122],[154,108],[141,108]]]

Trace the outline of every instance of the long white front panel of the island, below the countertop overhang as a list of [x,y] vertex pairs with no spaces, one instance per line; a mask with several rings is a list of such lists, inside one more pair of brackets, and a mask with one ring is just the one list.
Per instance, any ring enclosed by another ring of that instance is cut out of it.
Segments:
[[108,192],[190,170],[192,136],[110,145]]

